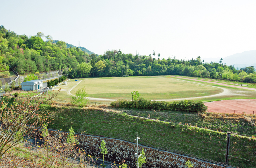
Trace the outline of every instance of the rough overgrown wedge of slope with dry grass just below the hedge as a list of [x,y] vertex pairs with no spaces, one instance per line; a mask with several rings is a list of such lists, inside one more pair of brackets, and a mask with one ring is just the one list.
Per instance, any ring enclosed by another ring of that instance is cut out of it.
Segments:
[[135,111],[124,110],[124,113],[133,116],[151,118],[176,124],[188,124],[199,128],[211,129],[214,131],[227,132],[242,136],[256,136],[256,115],[240,114],[188,114],[182,111]]

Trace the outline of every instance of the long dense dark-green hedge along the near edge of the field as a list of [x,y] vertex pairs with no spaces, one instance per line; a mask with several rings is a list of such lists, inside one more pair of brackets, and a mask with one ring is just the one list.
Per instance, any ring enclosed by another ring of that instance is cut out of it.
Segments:
[[151,101],[139,98],[137,101],[117,100],[111,103],[111,106],[116,108],[135,108],[148,110],[178,110],[186,112],[204,112],[207,106],[203,102],[195,102],[192,100],[181,100],[175,102]]

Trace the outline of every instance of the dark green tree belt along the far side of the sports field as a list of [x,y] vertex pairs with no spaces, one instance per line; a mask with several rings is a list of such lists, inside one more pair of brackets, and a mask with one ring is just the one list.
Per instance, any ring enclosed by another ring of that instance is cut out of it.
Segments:
[[[153,51],[153,57],[154,55]],[[160,55],[159,55],[160,56]],[[200,56],[188,61],[168,58],[155,59],[149,56],[124,54],[122,51],[107,51],[103,55],[90,56],[87,66],[80,64],[77,69],[65,72],[70,78],[96,76],[111,77],[124,75],[186,75],[194,77],[227,79],[233,81],[256,82],[254,67],[237,70],[233,66],[220,63],[202,63]],[[83,69],[82,69],[83,67]],[[90,71],[86,71],[90,69]]]

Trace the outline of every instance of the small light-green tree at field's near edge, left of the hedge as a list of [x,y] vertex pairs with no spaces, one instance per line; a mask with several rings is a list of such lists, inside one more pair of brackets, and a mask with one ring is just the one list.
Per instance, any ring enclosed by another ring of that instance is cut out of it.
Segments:
[[86,105],[86,102],[88,101],[86,97],[88,97],[87,91],[85,90],[85,87],[82,87],[75,91],[74,96],[71,96],[71,101],[73,104],[83,106]]

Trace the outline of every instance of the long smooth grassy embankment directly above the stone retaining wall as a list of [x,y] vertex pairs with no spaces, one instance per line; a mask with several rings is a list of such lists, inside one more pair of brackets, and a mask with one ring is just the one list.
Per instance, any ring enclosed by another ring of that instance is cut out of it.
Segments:
[[[45,105],[46,107],[49,106]],[[226,133],[132,117],[124,112],[99,107],[53,106],[49,107],[49,111],[58,116],[49,128],[68,131],[72,126],[77,133],[85,131],[85,134],[119,138],[131,142],[134,141],[135,132],[138,132],[141,138],[140,144],[190,154],[196,158],[225,162]],[[254,138],[232,135],[229,154],[255,161],[255,145]],[[244,168],[256,166],[253,162],[232,157],[229,164]]]

